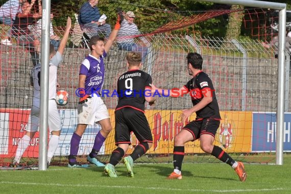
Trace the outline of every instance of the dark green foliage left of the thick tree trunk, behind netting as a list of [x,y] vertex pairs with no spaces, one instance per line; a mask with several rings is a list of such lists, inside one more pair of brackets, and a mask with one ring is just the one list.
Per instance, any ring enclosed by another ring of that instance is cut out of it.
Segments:
[[[56,26],[64,26],[65,18],[70,16],[72,23],[74,23],[74,13],[78,13],[80,6],[86,0],[66,0],[58,1],[52,0],[52,11],[56,12],[54,22]],[[193,2],[192,0],[162,0],[162,1],[111,1],[101,0],[98,3],[98,8],[101,13],[105,13],[108,23],[114,23],[115,10],[117,7],[122,8],[124,11],[133,11],[137,17],[135,20],[136,25],[140,31],[147,33],[149,27],[157,29],[164,23],[167,23],[175,17],[190,17],[201,13],[201,11],[194,10],[210,10],[210,9],[228,9],[230,6],[209,3],[209,2]],[[188,27],[187,29],[178,30],[173,33],[192,34],[197,32],[205,36],[224,36],[225,35],[225,18],[223,16],[211,18],[206,21],[197,23],[195,26]]]

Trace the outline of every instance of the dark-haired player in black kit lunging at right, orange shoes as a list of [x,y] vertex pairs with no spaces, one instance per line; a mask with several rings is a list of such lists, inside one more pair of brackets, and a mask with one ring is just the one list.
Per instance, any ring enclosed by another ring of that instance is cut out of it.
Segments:
[[158,91],[160,94],[174,98],[190,93],[193,107],[183,110],[180,117],[182,122],[185,122],[186,118],[192,113],[196,112],[197,116],[196,120],[184,126],[174,138],[174,172],[168,176],[168,179],[182,179],[181,167],[184,158],[184,144],[200,138],[200,147],[204,152],[232,166],[239,180],[245,181],[247,173],[244,164],[234,161],[220,147],[213,146],[216,131],[220,126],[221,117],[212,81],[201,70],[202,63],[203,59],[200,54],[189,53],[187,55],[188,72],[193,78],[180,89],[174,88],[172,90],[166,90],[152,85],[152,92]]

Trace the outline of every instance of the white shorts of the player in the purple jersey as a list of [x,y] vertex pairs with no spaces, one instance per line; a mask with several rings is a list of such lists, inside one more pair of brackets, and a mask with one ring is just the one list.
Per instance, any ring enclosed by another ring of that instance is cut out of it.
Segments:
[[78,104],[78,124],[94,125],[100,120],[110,118],[103,100],[94,96],[83,104]]

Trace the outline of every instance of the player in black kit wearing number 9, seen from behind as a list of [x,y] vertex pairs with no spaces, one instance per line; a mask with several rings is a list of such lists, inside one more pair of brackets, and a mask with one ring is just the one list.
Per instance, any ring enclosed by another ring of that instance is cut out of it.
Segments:
[[110,161],[104,172],[110,177],[117,177],[114,166],[123,158],[128,150],[130,132],[133,132],[140,142],[132,154],[123,159],[128,173],[133,174],[133,162],[146,153],[153,143],[152,132],[144,115],[144,103],[153,105],[155,98],[151,94],[152,77],[139,70],[141,56],[136,52],[126,55],[128,71],[118,78],[118,104],[115,109],[115,144],[117,148],[112,152]]

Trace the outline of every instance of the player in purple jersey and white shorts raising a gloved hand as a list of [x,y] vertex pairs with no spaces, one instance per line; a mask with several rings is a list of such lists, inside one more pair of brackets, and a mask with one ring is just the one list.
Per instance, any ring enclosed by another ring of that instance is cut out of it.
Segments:
[[79,144],[87,125],[93,125],[94,123],[99,123],[102,129],[95,137],[93,148],[87,157],[87,161],[95,164],[96,166],[105,166],[103,163],[98,161],[96,157],[112,127],[107,107],[100,96],[98,96],[98,93],[101,92],[105,79],[104,58],[107,56],[107,52],[117,36],[122,18],[122,12],[119,12],[117,14],[114,30],[111,32],[105,44],[104,38],[102,37],[93,36],[90,38],[90,54],[84,59],[80,67],[78,125],[70,141],[68,167],[88,166],[86,164],[78,163],[77,155],[79,151]]

